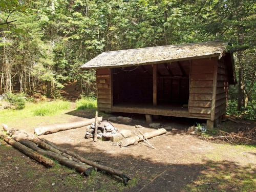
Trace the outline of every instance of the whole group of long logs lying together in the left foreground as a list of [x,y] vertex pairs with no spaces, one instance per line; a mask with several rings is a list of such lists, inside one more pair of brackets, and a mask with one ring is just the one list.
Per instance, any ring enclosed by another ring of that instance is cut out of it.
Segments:
[[4,141],[46,167],[52,167],[54,165],[54,162],[48,158],[50,157],[67,167],[75,169],[85,176],[90,175],[91,170],[94,168],[115,177],[118,176],[124,184],[127,184],[131,179],[118,169],[104,166],[83,158],[72,151],[56,146],[46,139],[40,139],[36,135],[9,129],[7,125],[3,125],[3,129],[7,135],[2,133],[0,134],[0,137]]

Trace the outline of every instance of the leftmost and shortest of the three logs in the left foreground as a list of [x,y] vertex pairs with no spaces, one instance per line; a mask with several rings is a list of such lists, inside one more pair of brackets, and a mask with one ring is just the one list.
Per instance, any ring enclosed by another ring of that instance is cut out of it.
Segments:
[[45,165],[47,168],[50,168],[54,165],[54,162],[47,158],[44,157],[42,155],[40,155],[37,152],[34,152],[33,150],[31,150],[31,148],[28,148],[27,146],[14,141],[13,139],[8,138],[7,136],[1,134],[0,136],[2,139],[4,139],[5,142],[7,142],[8,144],[12,145],[14,148],[16,148],[16,150],[24,153],[25,155],[27,155],[28,157],[30,157],[31,159],[36,160],[38,163],[41,163],[43,165]]

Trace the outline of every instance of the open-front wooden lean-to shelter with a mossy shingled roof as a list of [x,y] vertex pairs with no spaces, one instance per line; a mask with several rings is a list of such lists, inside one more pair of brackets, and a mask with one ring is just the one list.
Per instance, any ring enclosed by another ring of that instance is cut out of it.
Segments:
[[99,111],[206,119],[211,129],[226,113],[235,84],[227,44],[208,41],[103,52],[81,66],[96,69]]

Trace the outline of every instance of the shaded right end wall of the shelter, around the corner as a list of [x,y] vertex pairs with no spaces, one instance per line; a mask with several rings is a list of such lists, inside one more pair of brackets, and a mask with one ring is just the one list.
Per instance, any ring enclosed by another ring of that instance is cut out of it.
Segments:
[[215,119],[226,113],[228,97],[228,71],[223,59],[218,62]]

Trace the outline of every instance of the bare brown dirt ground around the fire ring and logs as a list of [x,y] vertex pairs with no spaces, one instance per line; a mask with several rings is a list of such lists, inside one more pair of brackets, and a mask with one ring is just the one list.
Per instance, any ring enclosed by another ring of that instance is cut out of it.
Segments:
[[[102,115],[102,114],[101,114]],[[108,116],[120,114],[103,114]],[[121,114],[122,115],[122,114]],[[127,114],[125,114],[127,116]],[[71,111],[58,115],[65,122],[92,118],[91,111]],[[60,119],[59,119],[60,118]],[[40,136],[69,148],[83,157],[123,170],[133,179],[127,186],[104,173],[94,172],[85,178],[59,164],[47,169],[22,153],[0,145],[0,191],[253,191],[256,189],[256,149],[244,145],[212,142],[186,133],[193,119],[159,118],[167,133],[150,139],[156,150],[143,142],[118,147],[111,142],[84,139],[85,127]],[[48,124],[47,121],[38,125]],[[113,123],[118,129],[138,132],[135,124],[152,131],[144,116],[132,123]],[[238,126],[231,121],[222,126]],[[239,126],[255,126],[255,122]],[[172,129],[170,129],[172,127]],[[20,127],[19,127],[20,128]],[[33,127],[23,130],[33,133]],[[160,174],[160,176],[158,176]],[[156,177],[158,176],[158,177]],[[153,180],[153,181],[152,181]],[[151,182],[152,181],[152,182]]]

